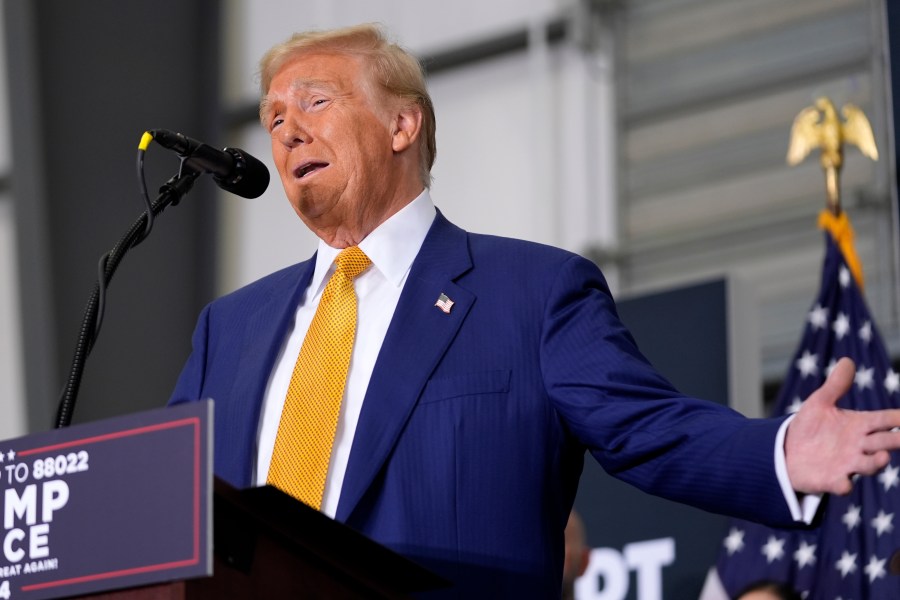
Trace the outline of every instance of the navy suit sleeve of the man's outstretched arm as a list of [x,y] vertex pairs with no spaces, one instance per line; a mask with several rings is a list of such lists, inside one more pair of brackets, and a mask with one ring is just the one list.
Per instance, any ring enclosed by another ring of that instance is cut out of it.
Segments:
[[643,357],[600,271],[567,260],[548,295],[542,375],[565,425],[611,475],[654,495],[793,522],[774,465],[781,419],[748,419],[678,392]]

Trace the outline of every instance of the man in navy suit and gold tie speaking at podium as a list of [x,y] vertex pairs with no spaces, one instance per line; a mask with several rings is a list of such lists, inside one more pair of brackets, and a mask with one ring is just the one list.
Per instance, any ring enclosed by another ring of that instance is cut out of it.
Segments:
[[[275,483],[453,581],[454,597],[544,598],[560,594],[585,450],[649,493],[784,525],[900,445],[897,411],[835,408],[849,361],[789,427],[745,419],[653,370],[589,261],[449,223],[428,193],[421,68],[377,28],[299,34],[261,67],[275,165],[320,243],[199,319],[172,402],[215,400],[218,476]],[[348,289],[352,310],[322,319],[350,333],[328,341],[320,313]],[[308,374],[322,363],[341,372],[334,416],[308,396],[333,387],[332,371]],[[297,446],[316,458],[292,459]]]

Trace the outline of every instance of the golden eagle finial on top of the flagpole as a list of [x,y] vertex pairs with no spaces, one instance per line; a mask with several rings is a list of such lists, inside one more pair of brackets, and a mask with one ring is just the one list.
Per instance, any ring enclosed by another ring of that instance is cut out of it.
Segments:
[[831,100],[821,97],[794,118],[787,162],[799,164],[813,148],[820,148],[822,168],[825,170],[825,194],[828,207],[834,214],[841,212],[840,171],[844,163],[844,144],[858,146],[872,160],[878,160],[878,148],[872,126],[865,113],[853,104],[841,108],[843,122]]

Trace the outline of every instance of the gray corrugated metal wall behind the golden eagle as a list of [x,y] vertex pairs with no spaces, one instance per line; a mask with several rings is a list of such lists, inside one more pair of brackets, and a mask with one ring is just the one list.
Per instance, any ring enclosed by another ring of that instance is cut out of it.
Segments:
[[632,0],[619,14],[621,291],[727,274],[759,302],[763,371],[783,375],[818,286],[818,153],[785,164],[794,116],[860,106],[881,152],[846,152],[843,203],[867,298],[897,350],[896,215],[883,6],[869,0]]

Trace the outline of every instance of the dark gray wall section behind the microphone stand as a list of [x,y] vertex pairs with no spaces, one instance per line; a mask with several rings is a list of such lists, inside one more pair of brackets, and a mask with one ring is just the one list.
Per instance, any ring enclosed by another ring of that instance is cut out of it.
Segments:
[[[25,393],[38,431],[54,421],[97,261],[143,210],[142,132],[221,137],[219,13],[214,0],[7,0],[3,9]],[[177,167],[150,147],[151,196]],[[75,422],[167,400],[211,294],[213,190],[200,181],[122,263]]]

